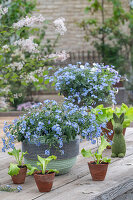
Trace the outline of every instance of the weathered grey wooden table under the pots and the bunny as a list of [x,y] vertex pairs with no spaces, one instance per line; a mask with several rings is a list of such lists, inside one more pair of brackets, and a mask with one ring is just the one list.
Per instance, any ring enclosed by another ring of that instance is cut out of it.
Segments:
[[[125,138],[126,156],[112,158],[105,181],[92,181],[87,166],[89,159],[79,154],[70,173],[55,177],[50,193],[39,193],[33,176],[27,176],[21,192],[0,192],[0,200],[133,200],[133,128],[127,129]],[[86,141],[80,144],[80,150],[83,147],[96,149],[96,145]],[[105,150],[104,155],[110,157],[111,150]],[[0,184],[15,187],[7,174],[11,161],[14,159],[7,153],[0,152]]]

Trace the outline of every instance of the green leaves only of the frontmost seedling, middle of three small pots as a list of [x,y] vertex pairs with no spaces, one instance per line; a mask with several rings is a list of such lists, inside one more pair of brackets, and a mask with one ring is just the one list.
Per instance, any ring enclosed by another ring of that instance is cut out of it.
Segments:
[[[48,163],[51,162],[52,160],[56,160],[57,158],[56,156],[52,155],[47,158],[42,158],[41,156],[37,155],[37,158],[38,158],[37,166],[41,167],[42,174],[49,174],[52,172],[55,172],[57,174],[59,173],[59,171],[57,171],[56,169],[46,170]],[[38,169],[37,167],[31,166],[30,164],[27,165],[27,168],[30,170],[27,173],[28,175],[32,175],[35,171],[40,171],[40,169]]]

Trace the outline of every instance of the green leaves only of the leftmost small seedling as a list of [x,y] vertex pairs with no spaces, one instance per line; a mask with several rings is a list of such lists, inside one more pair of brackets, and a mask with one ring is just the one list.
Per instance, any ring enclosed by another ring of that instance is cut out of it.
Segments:
[[[21,155],[20,155],[20,153],[21,153]],[[21,152],[20,149],[17,150],[16,148],[14,148],[13,151],[8,152],[8,154],[10,156],[14,156],[17,161],[17,163],[10,163],[8,174],[10,176],[18,175],[19,171],[20,171],[20,167],[26,166],[26,165],[23,165],[22,162],[23,162],[23,157],[25,154],[27,154],[27,152]]]

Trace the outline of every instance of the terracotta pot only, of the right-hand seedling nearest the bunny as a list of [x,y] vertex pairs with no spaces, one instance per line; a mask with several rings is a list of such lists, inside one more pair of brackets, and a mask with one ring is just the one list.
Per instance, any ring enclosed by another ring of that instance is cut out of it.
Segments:
[[93,181],[103,181],[105,179],[108,163],[95,164],[94,161],[88,162]]

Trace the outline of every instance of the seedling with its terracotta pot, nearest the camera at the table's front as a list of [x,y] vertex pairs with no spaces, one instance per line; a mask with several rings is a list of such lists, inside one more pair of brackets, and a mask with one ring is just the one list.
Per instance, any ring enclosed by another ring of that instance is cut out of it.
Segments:
[[51,160],[55,160],[57,157],[52,155],[47,158],[42,158],[41,156],[37,155],[37,158],[39,161],[37,162],[37,165],[41,167],[41,170],[28,164],[27,167],[30,170],[28,172],[28,175],[34,174],[34,179],[39,189],[39,192],[50,192],[53,185],[55,173],[59,172],[56,169],[46,170],[46,167]]

